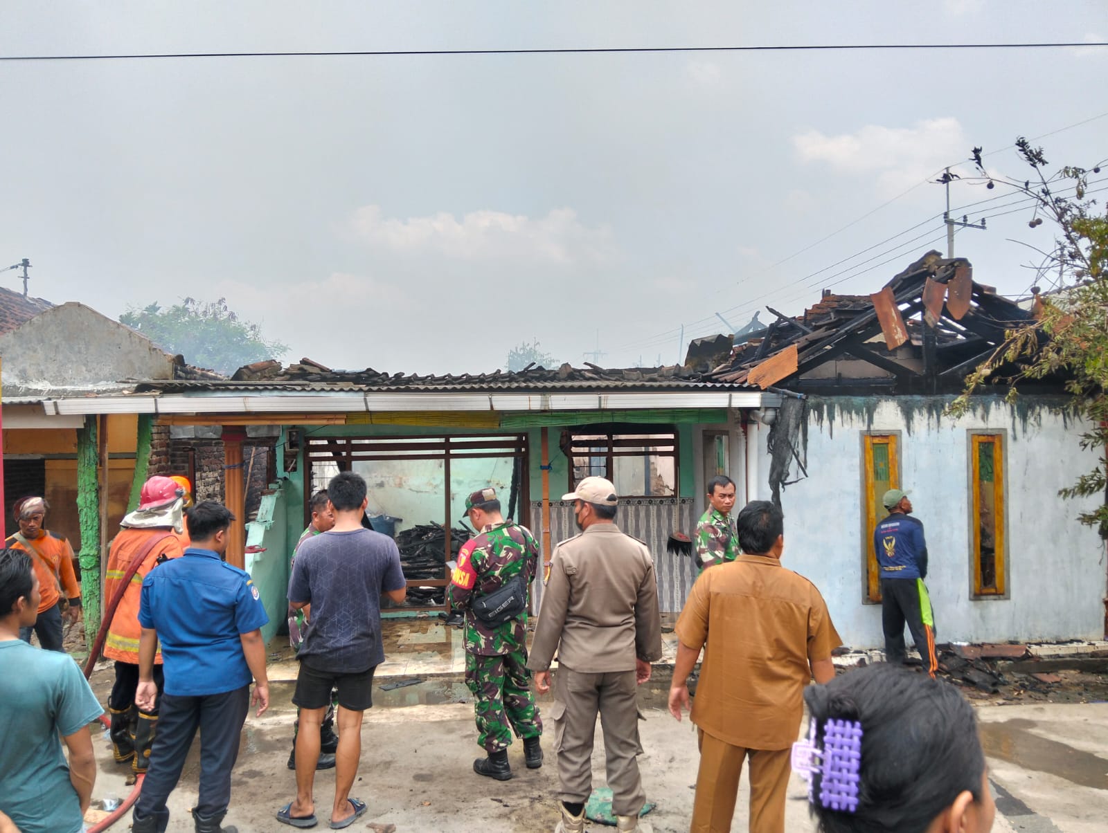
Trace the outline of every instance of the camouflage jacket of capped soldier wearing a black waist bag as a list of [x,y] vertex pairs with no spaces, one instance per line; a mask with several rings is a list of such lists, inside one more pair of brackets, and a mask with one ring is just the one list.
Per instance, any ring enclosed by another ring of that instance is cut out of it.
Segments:
[[512,522],[486,526],[462,544],[450,579],[450,606],[465,613],[465,650],[495,656],[526,647],[527,615],[491,627],[471,609],[474,597],[499,590],[510,578],[525,576],[527,586],[538,568],[538,545],[525,526]]

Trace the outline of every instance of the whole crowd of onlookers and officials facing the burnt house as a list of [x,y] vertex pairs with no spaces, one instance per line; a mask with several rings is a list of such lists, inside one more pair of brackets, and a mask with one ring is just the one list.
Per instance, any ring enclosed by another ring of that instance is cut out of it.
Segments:
[[[252,706],[258,716],[269,707],[261,637],[268,617],[249,575],[225,561],[235,518],[213,501],[192,505],[189,491],[187,482],[150,479],[106,565],[112,750],[145,777],[134,833],[167,829],[167,799],[197,732],[195,830],[236,833],[223,820],[239,736]],[[926,544],[907,493],[884,495],[891,514],[874,529],[890,661],[838,677],[831,656],[840,639],[828,607],[781,564],[780,508],[752,501],[732,517],[735,495],[726,476],[707,484],[709,508],[696,532],[699,575],[676,625],[668,709],[678,721],[688,712],[700,753],[690,830],[730,830],[746,765],[752,833],[784,830],[791,771],[808,782],[824,833],[988,831],[994,806],[973,710],[934,678]],[[447,597],[463,617],[465,682],[483,752],[473,771],[511,780],[513,737],[522,741],[524,767],[541,768],[547,729],[560,785],[556,831],[579,833],[599,717],[616,829],[648,831],[636,692],[661,658],[654,559],[644,542],[620,531],[609,481],[585,477],[563,501],[581,532],[554,547],[544,575],[534,536],[504,518],[495,490],[464,498],[476,534],[459,553]],[[368,811],[350,792],[384,660],[381,604],[402,603],[407,583],[396,542],[365,525],[367,503],[362,477],[336,475],[311,496],[311,523],[295,548],[295,796],[276,812],[295,827],[320,822],[318,769],[336,770],[330,829]],[[0,549],[0,733],[8,749],[0,757],[0,833],[78,833],[95,781],[90,723],[103,709],[62,650],[62,621],[80,616],[80,594],[72,549],[43,526],[48,510],[41,497],[17,502],[20,532]],[[529,650],[537,580],[544,588]],[[905,624],[926,675],[902,666]],[[31,631],[42,649],[30,646]],[[693,697],[688,680],[698,664]],[[542,696],[550,697],[543,713]],[[807,738],[797,741],[806,703]],[[40,800],[45,794],[51,801]]]

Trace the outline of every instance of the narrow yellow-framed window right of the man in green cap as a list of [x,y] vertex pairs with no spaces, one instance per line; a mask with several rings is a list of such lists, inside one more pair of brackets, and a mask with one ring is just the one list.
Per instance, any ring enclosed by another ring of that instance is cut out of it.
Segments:
[[1007,586],[1004,434],[970,434],[970,557],[973,595],[1004,596]]

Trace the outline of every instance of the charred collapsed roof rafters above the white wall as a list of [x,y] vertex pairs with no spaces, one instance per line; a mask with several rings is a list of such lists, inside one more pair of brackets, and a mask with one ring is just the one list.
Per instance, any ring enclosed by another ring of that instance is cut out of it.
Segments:
[[[797,369],[777,384],[838,389],[849,383],[852,389],[866,384],[876,389],[892,383],[901,392],[956,390],[1004,342],[1006,330],[1032,317],[1015,301],[975,282],[967,260],[947,259],[937,251],[911,264],[872,296],[824,290],[814,306],[796,318],[769,311],[777,320],[761,342],[736,344],[730,362],[717,368],[712,378],[739,383],[760,378],[759,368],[788,349],[796,356]],[[853,372],[855,378],[841,383],[839,374],[806,378],[843,357],[869,363],[872,376],[862,371],[859,379]]]

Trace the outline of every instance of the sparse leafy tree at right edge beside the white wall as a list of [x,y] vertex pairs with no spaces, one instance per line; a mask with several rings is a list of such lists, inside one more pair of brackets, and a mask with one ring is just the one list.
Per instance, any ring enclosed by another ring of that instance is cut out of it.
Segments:
[[[1042,147],[1016,140],[1019,156],[1032,168],[1032,177],[992,177],[1025,196],[1033,197],[1028,226],[1035,229],[1049,220],[1055,239],[1035,265],[1040,285],[1050,291],[1038,294],[1035,321],[1008,330],[1005,341],[966,379],[962,395],[948,411],[964,413],[970,395],[989,382],[1010,384],[1008,400],[1017,395],[1019,382],[1063,376],[1071,394],[1068,410],[1087,426],[1080,438],[1086,451],[1100,452],[1098,465],[1059,491],[1063,497],[1099,497],[1100,505],[1078,515],[1083,524],[1097,526],[1108,538],[1108,216],[1088,198],[1089,174],[1066,166],[1048,175]],[[975,148],[979,151],[979,148]],[[978,157],[979,158],[979,157]],[[987,172],[978,163],[982,174]]]

